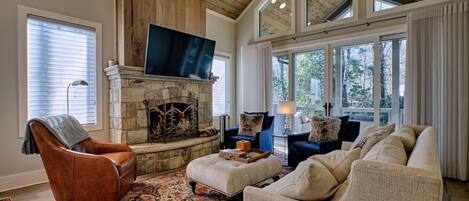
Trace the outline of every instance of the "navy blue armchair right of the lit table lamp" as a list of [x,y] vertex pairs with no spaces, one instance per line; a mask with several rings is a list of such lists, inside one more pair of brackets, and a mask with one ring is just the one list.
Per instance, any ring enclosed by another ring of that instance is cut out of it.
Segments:
[[339,139],[329,142],[312,143],[308,141],[309,132],[288,136],[288,166],[296,168],[301,161],[315,154],[326,154],[339,150],[342,141],[354,141],[360,132],[360,122],[348,121],[339,131]]

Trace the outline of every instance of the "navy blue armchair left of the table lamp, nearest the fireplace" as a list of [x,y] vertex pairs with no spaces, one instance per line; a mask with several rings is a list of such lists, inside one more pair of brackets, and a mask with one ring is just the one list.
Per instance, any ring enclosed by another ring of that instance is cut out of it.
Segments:
[[247,140],[251,142],[251,147],[273,153],[272,134],[274,132],[274,117],[269,116],[267,121],[262,125],[262,131],[256,136],[238,135],[239,128],[231,128],[225,131],[224,142],[225,148],[236,148],[236,142],[239,140]]

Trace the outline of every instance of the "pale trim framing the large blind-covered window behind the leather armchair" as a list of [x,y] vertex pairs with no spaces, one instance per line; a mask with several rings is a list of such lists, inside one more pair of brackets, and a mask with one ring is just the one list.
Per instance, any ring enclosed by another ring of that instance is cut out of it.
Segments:
[[84,125],[87,131],[103,130],[103,73],[102,73],[102,25],[97,22],[83,20],[54,12],[18,5],[18,131],[24,137],[25,125],[28,121],[28,53],[27,23],[28,15],[35,15],[51,20],[71,23],[78,26],[91,27],[96,32],[96,124]]

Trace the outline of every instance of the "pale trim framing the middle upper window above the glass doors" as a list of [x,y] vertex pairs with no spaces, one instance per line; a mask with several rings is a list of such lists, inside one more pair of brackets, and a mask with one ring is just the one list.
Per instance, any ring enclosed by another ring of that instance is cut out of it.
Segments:
[[353,0],[352,2],[352,17],[347,19],[340,19],[330,22],[324,22],[320,24],[315,24],[312,26],[307,26],[307,0],[301,0],[300,6],[300,32],[308,32],[308,31],[318,31],[330,27],[336,27],[339,25],[350,24],[354,22],[358,22],[358,7],[359,7],[359,0]]

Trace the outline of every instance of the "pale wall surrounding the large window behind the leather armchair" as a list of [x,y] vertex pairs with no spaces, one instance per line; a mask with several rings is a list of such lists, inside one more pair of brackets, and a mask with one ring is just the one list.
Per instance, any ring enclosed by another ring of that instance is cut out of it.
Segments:
[[[114,0],[1,0],[0,1],[0,191],[2,182],[43,169],[39,155],[20,152],[18,138],[18,37],[17,5],[56,12],[102,24],[102,61],[115,58]],[[104,74],[104,73],[103,73]],[[108,81],[103,75],[103,127],[92,136],[108,141]],[[41,172],[41,171],[39,171]],[[42,172],[41,172],[42,173]],[[27,182],[27,181],[25,181]],[[21,185],[21,184],[17,184]]]

